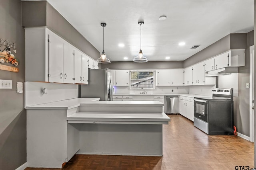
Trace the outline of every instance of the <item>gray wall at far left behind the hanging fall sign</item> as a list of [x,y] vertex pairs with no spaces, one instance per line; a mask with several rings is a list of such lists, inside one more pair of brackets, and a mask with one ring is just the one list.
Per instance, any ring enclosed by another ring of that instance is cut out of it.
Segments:
[[[16,45],[19,72],[0,70],[0,79],[12,80],[12,89],[0,89],[0,169],[14,170],[26,162],[26,110],[24,93],[16,93],[25,80],[25,32],[20,0],[1,0],[0,35]],[[0,47],[3,49],[4,47]],[[10,64],[10,66],[13,66]]]

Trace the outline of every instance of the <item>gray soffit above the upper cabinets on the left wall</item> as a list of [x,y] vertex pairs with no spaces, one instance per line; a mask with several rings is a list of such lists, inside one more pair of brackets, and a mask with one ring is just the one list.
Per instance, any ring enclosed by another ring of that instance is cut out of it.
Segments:
[[47,1],[22,2],[22,26],[46,26],[93,59],[100,57],[100,52]]

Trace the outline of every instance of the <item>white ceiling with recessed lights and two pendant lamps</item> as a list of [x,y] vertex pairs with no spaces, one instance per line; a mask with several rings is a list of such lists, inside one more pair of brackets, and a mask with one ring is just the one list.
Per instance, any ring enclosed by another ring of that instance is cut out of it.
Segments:
[[[254,28],[254,0],[47,0],[110,61],[140,50],[148,61],[183,61],[230,33]],[[158,20],[165,15],[165,21]],[[178,43],[186,45],[179,46]],[[118,47],[123,43],[124,47]],[[190,49],[193,45],[201,45]]]

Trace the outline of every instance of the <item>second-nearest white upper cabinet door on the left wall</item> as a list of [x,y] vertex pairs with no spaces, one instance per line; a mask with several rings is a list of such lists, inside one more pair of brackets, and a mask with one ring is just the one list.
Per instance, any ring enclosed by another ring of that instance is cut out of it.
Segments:
[[63,82],[74,83],[74,47],[63,44]]

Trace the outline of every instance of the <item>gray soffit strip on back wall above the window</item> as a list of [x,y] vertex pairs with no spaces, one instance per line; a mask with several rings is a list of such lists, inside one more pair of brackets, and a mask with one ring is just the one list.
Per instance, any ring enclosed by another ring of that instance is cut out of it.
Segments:
[[110,68],[110,69],[183,68],[183,61],[149,61],[147,63],[120,61],[120,62],[111,62],[110,64],[102,64],[102,68]]

